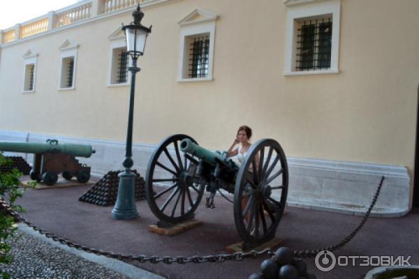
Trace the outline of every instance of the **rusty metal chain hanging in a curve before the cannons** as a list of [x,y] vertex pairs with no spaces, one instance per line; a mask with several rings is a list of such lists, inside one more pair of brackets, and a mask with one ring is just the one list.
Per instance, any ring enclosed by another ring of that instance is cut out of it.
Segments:
[[[322,250],[334,251],[334,250],[344,247],[349,241],[351,241],[351,239],[353,239],[353,237],[355,237],[356,234],[358,234],[362,226],[367,221],[367,218],[369,217],[369,214],[371,213],[372,208],[374,207],[374,204],[376,203],[378,199],[378,195],[380,194],[381,187],[383,186],[383,181],[384,181],[384,176],[381,177],[381,182],[376,190],[374,199],[372,200],[372,203],[369,206],[368,211],[365,213],[364,218],[362,218],[360,225],[358,225],[358,227],[354,229],[351,234],[346,236],[345,239],[343,239],[337,245],[330,246],[327,248],[321,248],[321,249],[311,250],[311,251],[294,250],[293,251],[294,255],[297,257],[314,257],[318,252]],[[105,257],[110,257],[113,259],[119,259],[119,260],[124,259],[127,261],[137,261],[140,263],[150,262],[152,264],[158,264],[159,262],[163,262],[164,264],[172,264],[172,263],[186,264],[189,262],[193,262],[194,264],[200,264],[203,262],[242,261],[243,259],[247,259],[247,258],[256,259],[257,257],[260,257],[265,254],[269,256],[274,255],[274,252],[270,248],[267,248],[260,252],[256,250],[251,250],[250,252],[235,252],[233,254],[219,254],[219,255],[193,256],[193,257],[158,257],[158,256],[147,257],[146,255],[125,255],[121,253],[117,254],[114,252],[108,252],[108,251],[103,251],[96,248],[84,246],[84,245],[75,243],[71,240],[65,239],[64,237],[57,236],[56,234],[52,234],[52,232],[48,232],[45,229],[41,229],[40,227],[30,223],[28,220],[20,216],[19,213],[10,209],[10,205],[7,204],[3,199],[0,199],[0,209],[1,208],[5,209],[10,214],[10,216],[13,216],[13,218],[15,218],[16,220],[20,220],[21,222],[25,223],[27,226],[31,227],[32,229],[39,232],[40,234],[45,234],[47,238],[52,239],[53,241],[57,241],[61,244],[65,244],[66,246],[71,247],[71,248],[83,250],[84,252],[89,252],[95,255],[101,255]]]

